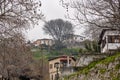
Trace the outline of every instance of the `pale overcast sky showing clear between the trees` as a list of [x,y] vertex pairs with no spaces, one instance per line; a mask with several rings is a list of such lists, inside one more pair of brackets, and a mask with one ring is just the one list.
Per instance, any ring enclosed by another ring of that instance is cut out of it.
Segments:
[[[60,5],[59,0],[41,0],[41,2],[41,11],[45,15],[46,20],[57,18],[67,20],[65,18],[65,15],[67,14],[66,9]],[[50,38],[43,32],[43,25],[44,23],[40,21],[39,25],[36,25],[34,28],[31,28],[26,34],[27,39],[35,41],[36,39]],[[79,33],[79,31],[77,32]]]

